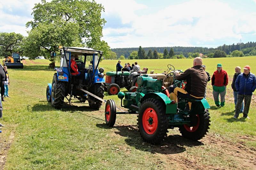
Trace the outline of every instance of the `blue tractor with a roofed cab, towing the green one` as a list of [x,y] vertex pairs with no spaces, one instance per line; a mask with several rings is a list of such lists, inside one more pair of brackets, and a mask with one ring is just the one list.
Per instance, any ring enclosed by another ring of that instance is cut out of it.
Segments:
[[[83,47],[60,47],[60,67],[55,67],[52,83],[46,88],[46,99],[56,109],[61,109],[64,98],[71,103],[88,101],[92,109],[99,109],[104,97],[104,69],[98,68],[102,51]],[[70,73],[70,57],[76,56],[79,75]],[[51,57],[56,53],[52,52]],[[86,62],[90,62],[89,64]],[[88,67],[85,67],[87,66]],[[67,97],[68,96],[68,97]],[[73,97],[73,99],[72,99]]]

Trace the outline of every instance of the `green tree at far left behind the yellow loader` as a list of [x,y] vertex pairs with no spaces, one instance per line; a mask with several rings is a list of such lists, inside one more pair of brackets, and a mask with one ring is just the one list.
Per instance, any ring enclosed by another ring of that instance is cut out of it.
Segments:
[[12,53],[22,53],[24,37],[15,32],[0,32],[0,56],[11,56]]

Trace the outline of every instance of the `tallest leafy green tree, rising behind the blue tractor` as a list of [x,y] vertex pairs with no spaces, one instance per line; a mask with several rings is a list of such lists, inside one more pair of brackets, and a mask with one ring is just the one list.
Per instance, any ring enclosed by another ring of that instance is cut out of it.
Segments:
[[33,59],[57,51],[61,45],[95,48],[104,51],[107,57],[110,48],[101,40],[106,23],[101,11],[104,11],[101,4],[89,0],[42,0],[35,4],[34,20],[26,24],[32,27],[25,43],[26,54]]

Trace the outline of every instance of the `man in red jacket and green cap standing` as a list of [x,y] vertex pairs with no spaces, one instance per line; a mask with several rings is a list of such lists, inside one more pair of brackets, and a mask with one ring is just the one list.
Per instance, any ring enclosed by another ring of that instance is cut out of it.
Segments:
[[[226,86],[228,85],[228,74],[217,64],[217,70],[212,74],[212,95],[217,107],[225,105]],[[220,101],[219,101],[220,95]]]

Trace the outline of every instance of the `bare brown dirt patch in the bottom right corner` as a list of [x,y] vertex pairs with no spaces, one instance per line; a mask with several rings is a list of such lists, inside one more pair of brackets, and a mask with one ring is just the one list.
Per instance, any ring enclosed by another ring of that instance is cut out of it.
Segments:
[[[249,141],[255,141],[252,137],[239,136],[238,139],[246,139]],[[230,138],[223,138],[215,134],[207,134],[201,142],[207,147],[211,148],[212,152],[207,152],[207,156],[219,157],[222,160],[227,161],[230,159],[230,164],[226,166],[219,164],[210,164],[203,157],[197,157],[194,154],[188,152],[182,152],[177,154],[159,154],[162,159],[165,159],[170,164],[177,164],[179,169],[256,169],[256,149],[250,148],[244,144],[243,141],[232,141]],[[182,144],[183,142],[181,142]],[[164,143],[162,145],[170,145]],[[199,150],[200,146],[198,147]],[[167,149],[166,147],[165,149]],[[169,149],[172,149],[169,147]],[[158,152],[157,150],[154,152]],[[168,151],[166,151],[168,152]],[[204,152],[202,150],[202,152]]]

